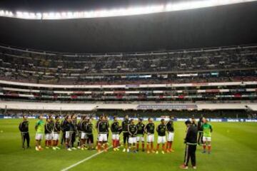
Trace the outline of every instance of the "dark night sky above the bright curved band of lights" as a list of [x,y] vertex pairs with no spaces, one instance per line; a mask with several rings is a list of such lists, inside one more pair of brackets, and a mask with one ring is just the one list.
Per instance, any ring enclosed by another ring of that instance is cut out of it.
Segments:
[[[144,6],[147,4],[165,4],[181,0],[1,0],[3,9],[21,11],[66,11],[109,9],[126,6]],[[190,0],[183,0],[190,1]]]

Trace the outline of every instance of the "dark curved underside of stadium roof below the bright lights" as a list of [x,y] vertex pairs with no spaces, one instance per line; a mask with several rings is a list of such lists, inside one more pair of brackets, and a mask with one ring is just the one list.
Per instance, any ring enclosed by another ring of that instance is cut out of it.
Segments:
[[[120,1],[119,6],[123,2]],[[167,1],[161,3],[167,4]],[[32,11],[33,8],[33,5],[28,5],[28,8],[21,6],[21,3],[12,4],[11,7],[8,4],[8,1],[6,4],[0,2],[2,8],[10,11]],[[29,1],[28,4],[35,3]],[[138,3],[138,6],[141,4]],[[109,6],[111,8],[112,5]],[[47,5],[34,7],[35,13],[47,9]],[[75,9],[75,6],[71,7]],[[53,6],[51,9],[58,11],[66,10],[67,7],[58,9]],[[257,2],[251,1],[201,9],[94,19],[24,20],[0,17],[0,43],[73,53],[165,51],[251,44],[257,43],[256,9]]]

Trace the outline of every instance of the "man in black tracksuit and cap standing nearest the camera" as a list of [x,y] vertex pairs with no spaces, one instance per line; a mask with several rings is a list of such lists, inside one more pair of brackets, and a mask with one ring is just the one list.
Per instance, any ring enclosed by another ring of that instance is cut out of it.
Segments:
[[197,146],[197,128],[191,121],[186,120],[186,152],[182,169],[188,169],[188,162],[191,160],[193,169],[196,169],[196,146]]

